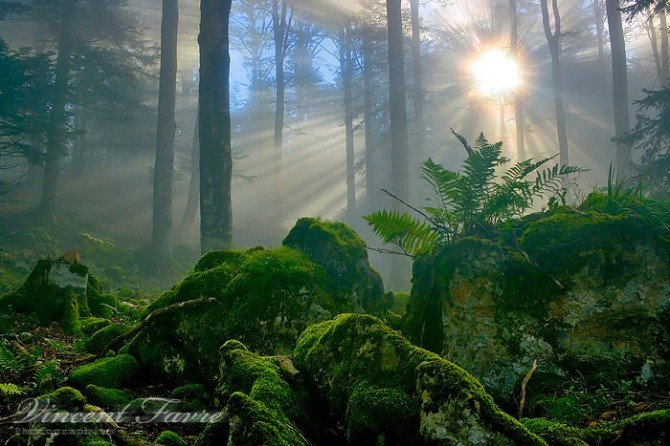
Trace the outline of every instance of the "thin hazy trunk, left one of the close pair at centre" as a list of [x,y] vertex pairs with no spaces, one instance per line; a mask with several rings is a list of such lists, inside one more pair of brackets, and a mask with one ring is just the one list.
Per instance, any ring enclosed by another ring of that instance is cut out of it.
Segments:
[[351,50],[351,25],[347,23],[340,32],[340,75],[344,93],[344,129],[347,161],[347,218],[356,212],[356,177],[354,165],[354,108],[352,104],[353,58]]

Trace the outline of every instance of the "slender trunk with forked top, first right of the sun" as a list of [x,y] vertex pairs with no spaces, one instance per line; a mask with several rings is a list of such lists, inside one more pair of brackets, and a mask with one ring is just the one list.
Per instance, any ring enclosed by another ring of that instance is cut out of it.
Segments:
[[549,44],[551,54],[551,75],[554,86],[554,107],[556,110],[556,131],[558,133],[558,149],[561,165],[569,165],[568,131],[565,119],[565,103],[563,99],[563,78],[561,73],[561,14],[558,10],[558,0],[551,0],[553,15],[553,30],[547,0],[540,0],[542,8],[542,25]]

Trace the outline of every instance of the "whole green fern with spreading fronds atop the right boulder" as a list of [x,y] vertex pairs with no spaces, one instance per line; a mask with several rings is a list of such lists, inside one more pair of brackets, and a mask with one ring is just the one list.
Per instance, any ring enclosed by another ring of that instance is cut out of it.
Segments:
[[423,163],[422,177],[430,186],[436,205],[423,211],[412,209],[425,222],[396,211],[377,211],[364,217],[384,243],[417,254],[436,243],[493,231],[501,222],[523,215],[535,199],[547,198],[550,205],[564,202],[564,178],[583,172],[578,167],[558,164],[539,170],[556,158],[552,156],[523,160],[499,173],[510,162],[502,155],[502,142],[491,143],[480,134],[471,146],[465,137],[452,132],[468,157],[460,172],[447,170],[430,158]]

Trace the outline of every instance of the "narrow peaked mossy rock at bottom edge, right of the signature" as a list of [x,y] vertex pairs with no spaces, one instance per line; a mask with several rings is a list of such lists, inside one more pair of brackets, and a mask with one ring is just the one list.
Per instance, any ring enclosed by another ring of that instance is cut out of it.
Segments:
[[196,445],[310,444],[295,424],[298,402],[276,358],[256,355],[238,341],[226,342],[221,353],[217,394],[225,404],[224,416],[208,425]]

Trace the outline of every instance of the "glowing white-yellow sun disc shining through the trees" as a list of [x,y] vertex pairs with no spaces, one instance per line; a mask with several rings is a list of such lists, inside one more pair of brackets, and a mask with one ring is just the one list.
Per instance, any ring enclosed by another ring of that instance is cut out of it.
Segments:
[[501,49],[480,53],[470,64],[475,88],[485,97],[513,94],[521,86],[521,72],[516,61]]

